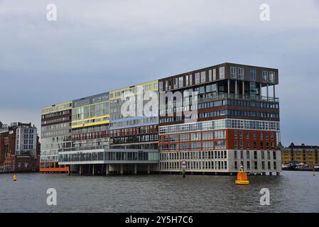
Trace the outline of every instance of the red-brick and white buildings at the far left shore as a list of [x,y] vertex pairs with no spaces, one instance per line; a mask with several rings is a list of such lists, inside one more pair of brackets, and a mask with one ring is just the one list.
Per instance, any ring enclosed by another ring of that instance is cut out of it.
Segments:
[[40,143],[31,123],[0,123],[0,172],[38,172]]

